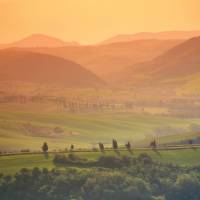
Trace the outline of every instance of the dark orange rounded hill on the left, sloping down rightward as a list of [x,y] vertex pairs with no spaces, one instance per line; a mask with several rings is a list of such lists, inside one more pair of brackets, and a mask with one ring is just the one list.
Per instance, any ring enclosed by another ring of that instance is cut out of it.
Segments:
[[81,65],[63,58],[17,51],[0,51],[0,81],[21,81],[65,87],[96,87],[103,81]]

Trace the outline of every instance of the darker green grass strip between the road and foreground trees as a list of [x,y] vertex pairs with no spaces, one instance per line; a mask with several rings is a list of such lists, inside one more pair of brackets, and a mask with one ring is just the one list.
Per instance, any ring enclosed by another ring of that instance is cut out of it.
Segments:
[[[157,153],[152,150],[135,150],[133,155],[127,151],[121,151],[120,156],[129,155],[137,157],[140,153],[148,153],[153,160],[173,163],[183,166],[196,166],[200,165],[200,149],[184,149],[184,150],[162,150]],[[78,152],[75,153],[79,157],[87,158],[88,160],[97,160],[102,155],[100,152]],[[105,155],[116,155],[115,152],[109,151]],[[116,155],[117,156],[117,155]],[[0,156],[0,172],[5,174],[14,174],[21,168],[32,169],[34,167],[39,168],[55,168],[52,160],[54,154],[49,154],[48,159],[42,154],[31,155],[15,155],[15,156]],[[77,166],[79,167],[79,166]],[[64,169],[60,167],[60,169]]]

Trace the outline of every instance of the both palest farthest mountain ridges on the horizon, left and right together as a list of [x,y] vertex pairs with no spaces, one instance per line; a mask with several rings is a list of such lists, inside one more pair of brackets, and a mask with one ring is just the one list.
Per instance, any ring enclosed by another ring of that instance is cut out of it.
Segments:
[[[90,45],[107,45],[112,43],[130,42],[134,40],[187,40],[192,37],[200,36],[200,31],[163,31],[163,32],[140,32],[135,34],[122,34],[108,38],[98,44]],[[65,42],[56,37],[44,34],[32,34],[21,40],[0,44],[0,48],[10,47],[63,47],[63,46],[80,46],[78,42]]]

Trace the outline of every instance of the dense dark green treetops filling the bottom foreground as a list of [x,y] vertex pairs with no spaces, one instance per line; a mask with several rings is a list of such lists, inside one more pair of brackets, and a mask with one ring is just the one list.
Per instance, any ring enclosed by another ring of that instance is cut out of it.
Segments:
[[[73,155],[73,154],[72,154]],[[77,159],[72,157],[71,159]],[[129,160],[127,160],[129,159]],[[198,200],[200,167],[179,167],[152,161],[147,154],[132,158],[102,157],[102,167],[66,171],[22,169],[0,175],[1,200]],[[124,163],[123,167],[107,165]],[[130,162],[132,164],[130,164]],[[129,163],[129,164],[125,164]]]

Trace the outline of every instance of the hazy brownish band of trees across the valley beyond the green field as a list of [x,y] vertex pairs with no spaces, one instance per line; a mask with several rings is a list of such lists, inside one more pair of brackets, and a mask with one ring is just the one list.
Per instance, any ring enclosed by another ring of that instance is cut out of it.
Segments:
[[73,100],[71,98],[58,96],[44,96],[44,95],[4,95],[0,97],[0,103],[51,103],[60,111],[80,112],[80,111],[103,111],[103,110],[121,110],[134,108],[133,102],[112,102],[106,101],[103,97],[101,100],[96,99],[81,99]]

